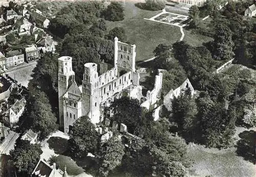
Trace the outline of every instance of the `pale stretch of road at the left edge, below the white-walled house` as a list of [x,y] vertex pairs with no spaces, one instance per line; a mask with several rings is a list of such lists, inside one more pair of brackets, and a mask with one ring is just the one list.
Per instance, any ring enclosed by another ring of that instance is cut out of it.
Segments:
[[0,152],[2,154],[9,155],[10,150],[14,149],[15,141],[19,137],[19,134],[17,134],[16,132],[11,131],[11,130],[9,132],[10,132],[10,134],[8,134],[8,132],[7,132],[8,135],[6,136],[5,141],[2,143],[2,145],[0,147]]

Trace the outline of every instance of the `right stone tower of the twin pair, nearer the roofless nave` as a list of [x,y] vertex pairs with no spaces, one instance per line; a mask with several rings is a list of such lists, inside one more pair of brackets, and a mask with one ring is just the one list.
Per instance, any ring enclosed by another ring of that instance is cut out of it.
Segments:
[[99,92],[97,64],[86,63],[82,80],[82,115],[88,115],[92,123],[100,121]]

